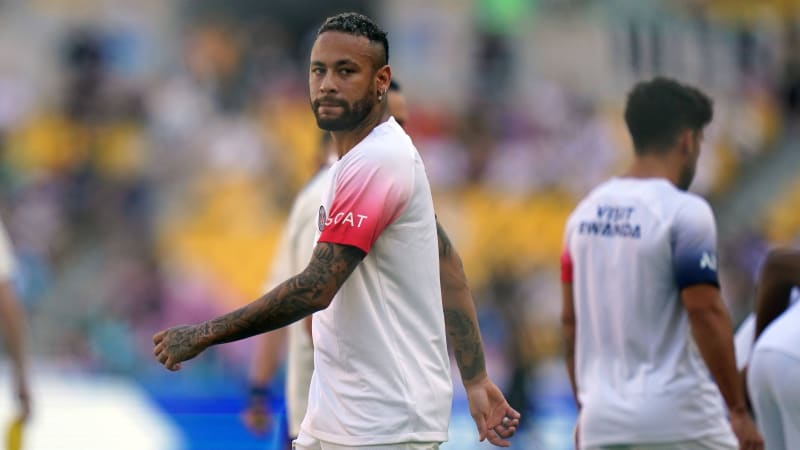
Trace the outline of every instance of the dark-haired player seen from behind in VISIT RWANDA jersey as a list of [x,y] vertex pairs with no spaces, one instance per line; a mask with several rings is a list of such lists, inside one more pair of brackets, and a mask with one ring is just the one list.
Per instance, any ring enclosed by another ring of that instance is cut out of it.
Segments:
[[637,84],[630,169],[567,221],[562,323],[582,449],[762,448],[734,364],[714,216],[686,192],[711,117],[693,87]]

